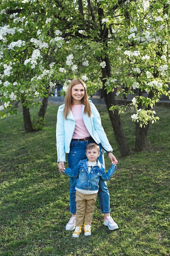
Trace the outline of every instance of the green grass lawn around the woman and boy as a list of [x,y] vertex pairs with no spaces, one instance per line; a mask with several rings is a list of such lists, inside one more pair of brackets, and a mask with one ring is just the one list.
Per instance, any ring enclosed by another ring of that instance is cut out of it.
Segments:
[[[119,230],[103,225],[98,201],[92,235],[72,238],[69,178],[57,169],[55,125],[58,106],[50,103],[43,130],[24,132],[22,110],[0,120],[0,256],[168,256],[170,255],[170,116],[150,125],[146,149],[135,153],[131,112],[121,115],[130,144],[125,158],[115,142],[105,106],[97,106],[118,159],[108,181],[111,215]],[[38,109],[31,108],[36,118]],[[109,167],[108,157],[105,157]]]

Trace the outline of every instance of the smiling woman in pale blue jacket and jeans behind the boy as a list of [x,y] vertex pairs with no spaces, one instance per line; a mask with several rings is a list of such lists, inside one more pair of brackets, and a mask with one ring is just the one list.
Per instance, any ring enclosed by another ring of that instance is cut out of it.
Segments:
[[[117,159],[112,154],[112,147],[106,137],[97,108],[88,100],[86,85],[81,79],[73,79],[66,92],[65,104],[59,107],[56,126],[57,162],[61,174],[65,168],[66,153],[68,154],[68,167],[73,169],[79,160],[86,158],[86,146],[95,142],[100,147],[99,162],[104,165],[102,147],[108,153],[113,164]],[[102,145],[102,146],[101,146]],[[72,217],[66,225],[66,230],[75,229],[75,186],[76,177],[70,177],[70,211]],[[99,182],[99,205],[104,213],[104,225],[108,229],[118,229],[117,224],[110,216],[110,198],[106,181]]]

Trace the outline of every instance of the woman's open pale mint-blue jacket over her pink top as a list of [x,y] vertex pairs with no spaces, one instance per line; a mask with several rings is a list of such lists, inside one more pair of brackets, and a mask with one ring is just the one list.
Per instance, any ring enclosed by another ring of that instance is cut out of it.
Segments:
[[[84,124],[90,133],[91,137],[97,144],[102,144],[107,151],[112,151],[104,128],[102,126],[100,114],[91,100],[89,100],[92,110],[92,116],[88,117],[84,114],[84,105],[82,107],[82,116]],[[66,153],[70,152],[70,143],[75,130],[75,119],[73,113],[70,111],[67,118],[64,118],[63,110],[65,104],[58,108],[57,112],[57,126],[56,126],[56,140],[57,140],[57,162],[66,162]]]

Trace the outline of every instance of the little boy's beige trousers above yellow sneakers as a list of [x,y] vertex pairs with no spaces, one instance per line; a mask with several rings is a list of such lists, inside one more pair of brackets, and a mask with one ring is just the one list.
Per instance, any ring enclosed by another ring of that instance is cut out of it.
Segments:
[[82,193],[79,193],[76,190],[75,192],[75,202],[76,202],[75,225],[76,226],[83,225],[84,215],[85,215],[84,224],[91,225],[96,199],[97,199],[97,193],[92,195],[84,195]]

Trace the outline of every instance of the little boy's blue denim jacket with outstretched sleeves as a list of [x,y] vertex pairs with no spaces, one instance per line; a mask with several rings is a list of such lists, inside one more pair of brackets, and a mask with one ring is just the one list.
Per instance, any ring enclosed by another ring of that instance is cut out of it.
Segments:
[[77,189],[98,190],[100,178],[102,178],[102,180],[109,180],[117,166],[111,164],[110,169],[108,169],[106,173],[104,166],[97,160],[96,165],[93,166],[90,173],[88,173],[87,161],[88,159],[80,160],[73,169],[66,168],[64,170],[65,174],[70,177],[77,177]]

